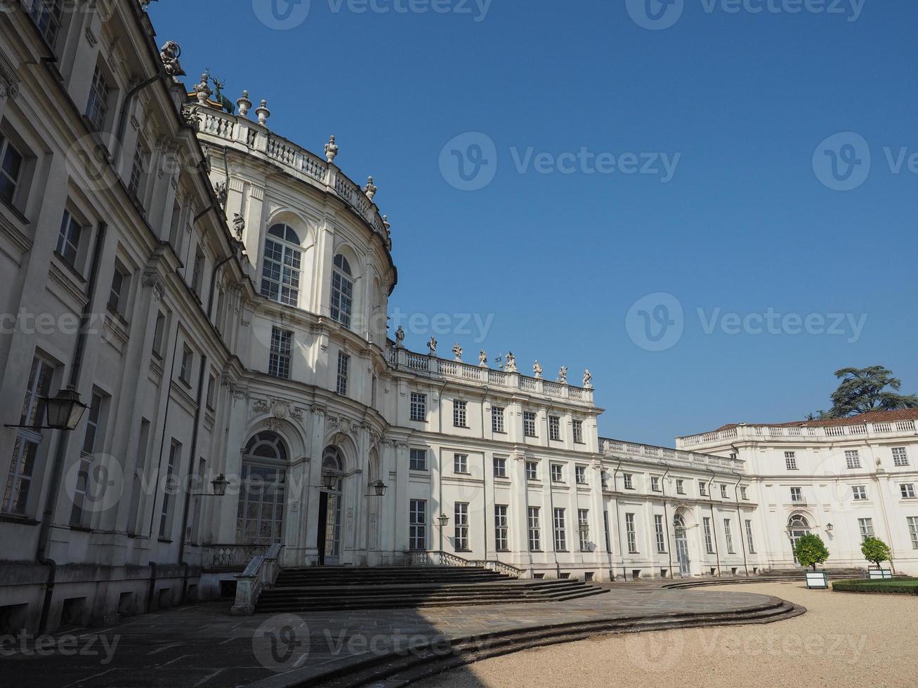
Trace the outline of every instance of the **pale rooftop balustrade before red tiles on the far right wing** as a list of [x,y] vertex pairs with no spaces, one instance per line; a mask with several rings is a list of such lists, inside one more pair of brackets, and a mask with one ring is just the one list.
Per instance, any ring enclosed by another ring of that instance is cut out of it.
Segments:
[[836,426],[752,426],[726,427],[700,435],[677,438],[681,448],[697,447],[719,442],[733,442],[741,439],[768,439],[788,442],[827,441],[838,438],[880,438],[890,435],[914,435],[913,420],[896,420],[884,423],[856,423]]

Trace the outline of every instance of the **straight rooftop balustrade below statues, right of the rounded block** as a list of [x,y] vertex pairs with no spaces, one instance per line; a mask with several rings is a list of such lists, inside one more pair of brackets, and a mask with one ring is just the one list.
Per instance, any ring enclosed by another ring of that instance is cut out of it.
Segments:
[[397,368],[428,377],[452,378],[467,383],[491,387],[506,387],[531,394],[544,394],[556,399],[567,399],[583,404],[593,404],[593,390],[565,383],[553,383],[542,378],[521,375],[519,372],[499,371],[482,365],[462,361],[446,361],[429,354],[416,353],[401,347],[390,347],[389,363]]

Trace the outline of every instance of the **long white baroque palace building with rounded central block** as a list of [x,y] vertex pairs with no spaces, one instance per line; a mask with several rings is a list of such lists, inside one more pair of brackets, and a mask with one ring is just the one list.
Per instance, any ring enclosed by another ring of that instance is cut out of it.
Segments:
[[406,349],[372,177],[187,86],[144,6],[0,24],[0,630],[218,595],[274,544],[608,581],[792,567],[811,531],[861,566],[875,533],[918,572],[918,414],[666,449],[599,438],[588,372]]

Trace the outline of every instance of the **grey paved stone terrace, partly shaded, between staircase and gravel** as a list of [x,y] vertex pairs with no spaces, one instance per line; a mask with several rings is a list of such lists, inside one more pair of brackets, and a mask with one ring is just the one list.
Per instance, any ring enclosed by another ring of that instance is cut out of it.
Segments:
[[[751,586],[750,586],[751,587]],[[762,591],[765,592],[765,591]],[[754,592],[661,590],[640,583],[565,603],[229,616],[228,603],[179,607],[117,627],[6,637],[3,683],[36,686],[284,686],[391,650],[449,638],[595,619],[729,612]]]

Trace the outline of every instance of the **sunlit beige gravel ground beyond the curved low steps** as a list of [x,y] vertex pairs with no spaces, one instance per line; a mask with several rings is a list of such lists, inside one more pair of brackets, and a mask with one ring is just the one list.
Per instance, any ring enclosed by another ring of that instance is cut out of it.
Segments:
[[808,611],[774,624],[635,633],[532,649],[480,661],[417,685],[918,685],[918,596],[832,593],[807,590],[798,583],[698,590],[720,591],[772,594]]

